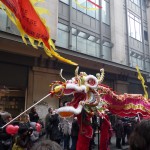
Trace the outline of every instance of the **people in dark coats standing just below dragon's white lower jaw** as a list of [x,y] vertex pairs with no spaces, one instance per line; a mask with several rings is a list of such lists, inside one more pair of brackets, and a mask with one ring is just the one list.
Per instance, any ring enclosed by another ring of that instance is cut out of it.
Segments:
[[[45,117],[46,139],[57,142],[62,145],[64,150],[76,150],[79,126],[77,118],[60,118],[53,110],[48,109]],[[71,143],[71,146],[70,146]]]

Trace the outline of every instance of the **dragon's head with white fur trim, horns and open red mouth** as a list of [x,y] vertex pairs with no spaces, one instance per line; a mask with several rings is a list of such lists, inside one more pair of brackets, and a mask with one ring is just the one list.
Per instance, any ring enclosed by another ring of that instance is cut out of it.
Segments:
[[76,68],[75,76],[70,80],[63,78],[61,70],[60,75],[65,82],[56,81],[51,85],[51,90],[58,97],[62,95],[73,95],[73,99],[67,103],[67,106],[58,109],[58,112],[61,112],[62,116],[76,114],[76,111],[80,113],[83,105],[96,106],[99,103],[97,88],[98,84],[104,79],[104,69],[101,69],[101,74],[99,73],[96,76],[87,75],[85,72],[78,73],[78,70],[79,67]]

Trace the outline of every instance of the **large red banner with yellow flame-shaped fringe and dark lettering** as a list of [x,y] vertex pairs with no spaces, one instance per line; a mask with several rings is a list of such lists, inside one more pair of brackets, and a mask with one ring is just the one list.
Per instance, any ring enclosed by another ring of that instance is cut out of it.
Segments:
[[35,3],[43,2],[43,0],[0,0],[4,5],[8,17],[16,25],[24,43],[27,44],[25,36],[29,38],[30,43],[34,48],[38,44],[43,44],[46,54],[50,57],[54,56],[60,61],[77,65],[71,60],[65,59],[55,52],[56,48],[50,38],[49,29],[46,26],[46,21],[39,14],[48,13],[48,10],[40,7],[35,7]]

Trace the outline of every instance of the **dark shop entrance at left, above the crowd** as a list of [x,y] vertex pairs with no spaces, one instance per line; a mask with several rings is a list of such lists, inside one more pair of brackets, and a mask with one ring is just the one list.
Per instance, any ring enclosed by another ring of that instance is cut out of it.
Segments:
[[25,109],[28,67],[0,63],[0,70],[0,112],[7,111],[15,117]]

